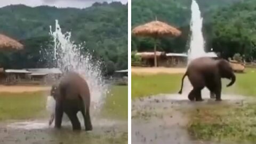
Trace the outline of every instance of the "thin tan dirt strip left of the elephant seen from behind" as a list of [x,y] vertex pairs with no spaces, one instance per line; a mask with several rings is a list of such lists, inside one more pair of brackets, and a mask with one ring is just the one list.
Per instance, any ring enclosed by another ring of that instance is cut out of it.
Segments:
[[21,93],[21,92],[37,92],[37,91],[47,91],[50,90],[50,86],[6,86],[0,85],[0,92],[10,92],[10,93]]

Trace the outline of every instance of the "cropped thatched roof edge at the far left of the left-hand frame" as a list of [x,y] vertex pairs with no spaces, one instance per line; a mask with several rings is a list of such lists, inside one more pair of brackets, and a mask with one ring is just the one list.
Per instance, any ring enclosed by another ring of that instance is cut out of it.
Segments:
[[23,45],[14,39],[0,34],[0,49],[23,49]]

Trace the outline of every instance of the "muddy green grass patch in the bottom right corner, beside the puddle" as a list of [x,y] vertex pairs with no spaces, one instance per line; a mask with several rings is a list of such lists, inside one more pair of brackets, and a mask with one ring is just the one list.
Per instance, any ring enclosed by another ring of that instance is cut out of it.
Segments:
[[198,107],[190,115],[188,130],[201,140],[254,142],[256,105]]

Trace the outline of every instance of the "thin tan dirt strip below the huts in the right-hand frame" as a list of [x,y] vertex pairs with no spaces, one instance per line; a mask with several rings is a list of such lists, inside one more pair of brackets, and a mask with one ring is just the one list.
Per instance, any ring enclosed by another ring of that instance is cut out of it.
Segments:
[[137,75],[152,75],[152,74],[179,74],[185,73],[186,68],[165,68],[165,67],[132,67],[132,74]]

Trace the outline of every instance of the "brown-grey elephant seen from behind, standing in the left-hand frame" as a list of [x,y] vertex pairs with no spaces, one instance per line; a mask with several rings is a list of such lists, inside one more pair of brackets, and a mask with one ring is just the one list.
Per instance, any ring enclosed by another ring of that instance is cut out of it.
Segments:
[[63,113],[69,117],[73,130],[81,130],[77,113],[81,111],[86,131],[92,130],[90,118],[90,91],[86,81],[75,72],[63,76],[57,85],[53,85],[51,95],[56,101],[55,114],[51,115],[49,125],[55,118],[55,128],[60,129]]

